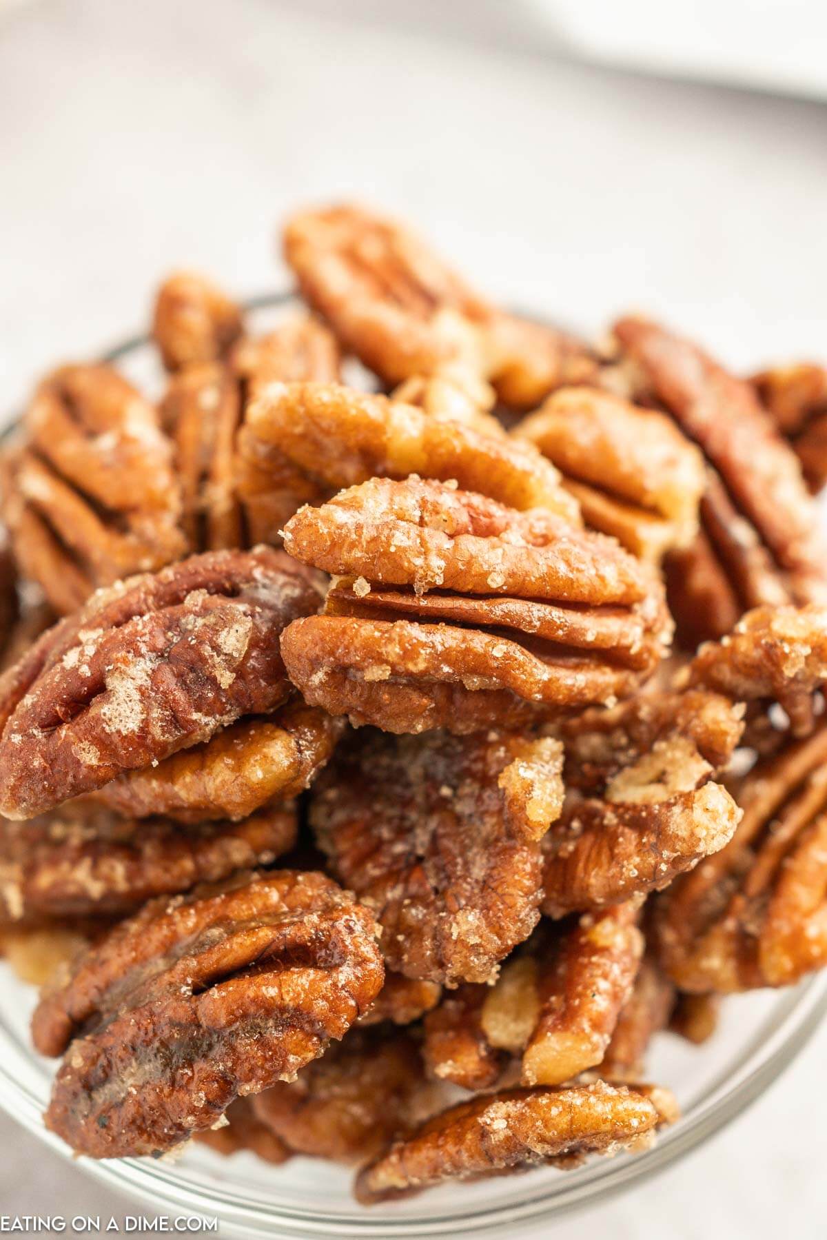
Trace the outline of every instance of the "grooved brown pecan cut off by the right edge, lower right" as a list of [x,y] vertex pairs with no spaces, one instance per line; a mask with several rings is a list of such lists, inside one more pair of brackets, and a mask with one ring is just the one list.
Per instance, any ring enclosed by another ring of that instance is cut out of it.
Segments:
[[827,724],[732,786],[741,823],[655,905],[660,959],[691,992],[786,986],[827,963]]

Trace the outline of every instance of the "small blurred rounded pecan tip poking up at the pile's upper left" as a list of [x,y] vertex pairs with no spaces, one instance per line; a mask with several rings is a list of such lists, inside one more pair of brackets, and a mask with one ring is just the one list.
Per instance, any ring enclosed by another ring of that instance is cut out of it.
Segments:
[[153,337],[167,371],[218,361],[243,326],[241,308],[197,272],[175,272],[157,290]]

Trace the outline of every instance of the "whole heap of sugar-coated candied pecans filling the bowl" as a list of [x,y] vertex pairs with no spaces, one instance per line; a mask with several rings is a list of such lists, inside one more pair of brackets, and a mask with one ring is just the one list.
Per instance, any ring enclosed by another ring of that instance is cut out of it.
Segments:
[[365,1203],[645,1148],[651,1039],[827,963],[827,371],[593,350],[355,207],[284,249],[306,310],[174,275],[160,404],[63,366],[2,451],[46,1123]]

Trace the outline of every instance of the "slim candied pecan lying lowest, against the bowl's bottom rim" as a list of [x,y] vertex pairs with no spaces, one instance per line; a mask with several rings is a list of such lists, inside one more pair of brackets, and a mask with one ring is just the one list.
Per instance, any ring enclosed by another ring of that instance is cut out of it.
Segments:
[[394,1141],[360,1172],[356,1195],[371,1204],[456,1177],[567,1167],[573,1157],[646,1147],[676,1118],[674,1099],[656,1086],[594,1081],[482,1094]]

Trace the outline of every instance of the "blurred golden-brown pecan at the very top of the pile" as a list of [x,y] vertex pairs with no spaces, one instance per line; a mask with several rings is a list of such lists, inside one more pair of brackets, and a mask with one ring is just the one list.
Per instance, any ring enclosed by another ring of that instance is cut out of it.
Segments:
[[361,207],[293,216],[284,255],[306,301],[389,384],[455,365],[469,329],[505,404],[529,408],[595,371],[572,336],[495,309],[413,232]]

